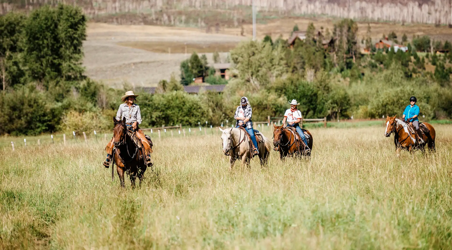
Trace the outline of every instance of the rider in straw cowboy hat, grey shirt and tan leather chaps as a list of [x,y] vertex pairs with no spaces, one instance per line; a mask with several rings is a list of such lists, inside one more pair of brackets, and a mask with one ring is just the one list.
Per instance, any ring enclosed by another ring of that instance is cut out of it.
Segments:
[[[133,91],[127,91],[121,97],[121,100],[124,102],[119,105],[118,112],[116,113],[116,120],[120,121],[122,118],[126,118],[127,129],[131,129],[136,132],[137,137],[140,139],[141,144],[143,145],[143,149],[146,155],[146,163],[148,166],[151,165],[151,145],[147,141],[143,131],[138,128],[138,124],[141,123],[141,111],[140,106],[135,104],[135,99],[139,94],[133,94]],[[105,151],[107,151],[107,159],[104,161],[104,166],[108,168],[110,166],[110,162],[112,159],[113,153],[113,138],[110,142],[108,142],[105,147]]]

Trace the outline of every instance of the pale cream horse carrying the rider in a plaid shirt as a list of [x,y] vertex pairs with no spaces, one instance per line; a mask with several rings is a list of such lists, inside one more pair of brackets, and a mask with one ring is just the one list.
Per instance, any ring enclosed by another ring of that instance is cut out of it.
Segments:
[[[231,156],[230,169],[234,166],[235,160],[242,160],[242,167],[248,165],[250,167],[250,159],[252,154],[250,151],[250,140],[245,131],[235,127],[228,127],[225,130],[220,128],[221,141],[223,143],[223,153],[226,156]],[[260,165],[266,165],[268,162],[268,156],[272,147],[272,142],[268,140],[264,135],[264,142],[258,141],[259,146],[259,159]]]

